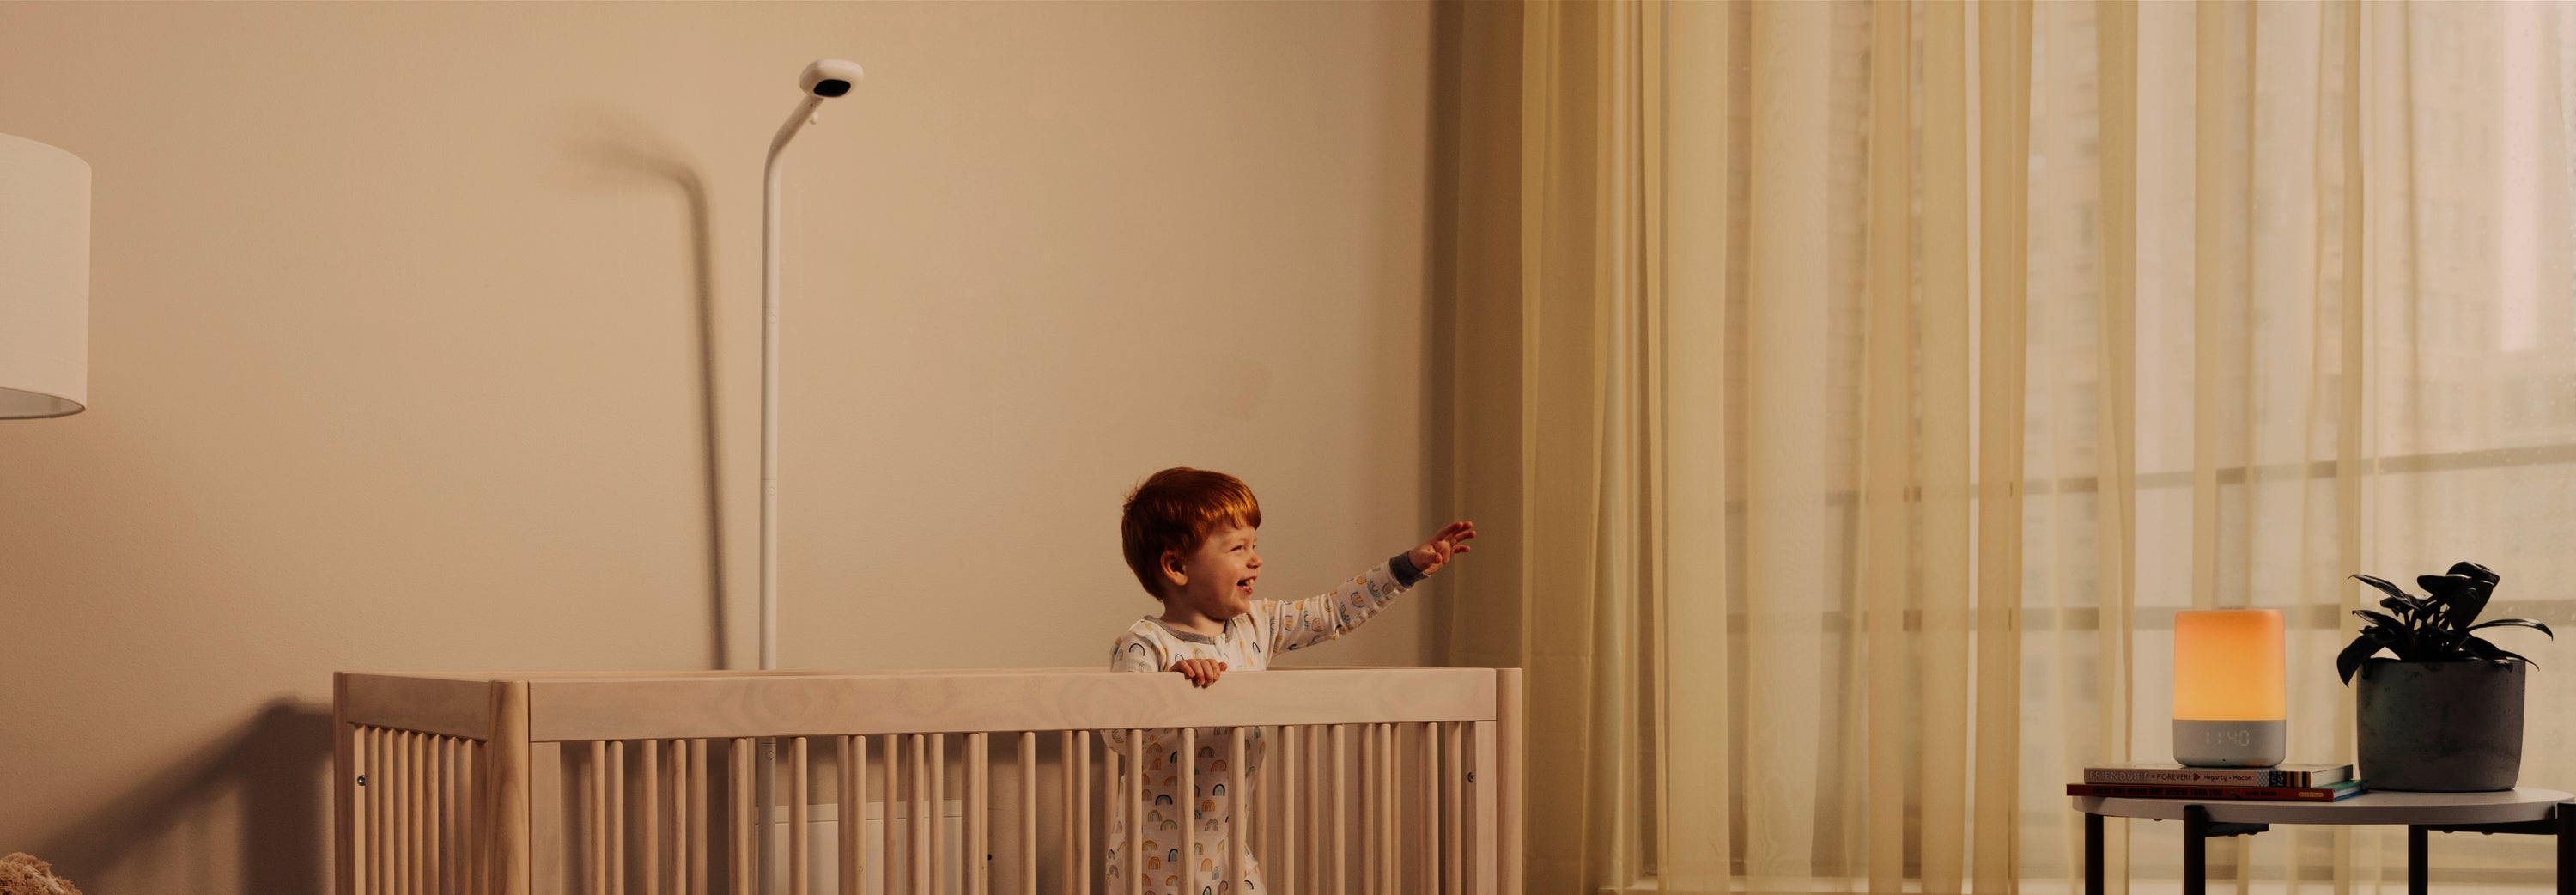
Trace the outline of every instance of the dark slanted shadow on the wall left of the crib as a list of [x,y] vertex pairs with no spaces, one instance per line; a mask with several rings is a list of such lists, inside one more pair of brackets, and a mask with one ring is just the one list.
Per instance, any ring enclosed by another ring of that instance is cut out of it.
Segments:
[[[330,727],[330,704],[270,702],[214,745],[62,825],[36,856],[90,892],[103,892],[106,877],[149,877],[152,890],[170,892],[327,892]],[[237,885],[216,880],[227,869]]]

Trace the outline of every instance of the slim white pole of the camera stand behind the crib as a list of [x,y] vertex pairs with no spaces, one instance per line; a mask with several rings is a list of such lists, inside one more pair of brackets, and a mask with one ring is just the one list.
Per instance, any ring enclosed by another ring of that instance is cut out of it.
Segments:
[[[770,160],[760,196],[760,671],[778,671],[778,152],[814,119],[824,98],[806,95],[796,113],[770,139]],[[775,892],[770,872],[770,805],[775,794],[778,740],[760,740],[755,805],[760,831],[760,892]]]

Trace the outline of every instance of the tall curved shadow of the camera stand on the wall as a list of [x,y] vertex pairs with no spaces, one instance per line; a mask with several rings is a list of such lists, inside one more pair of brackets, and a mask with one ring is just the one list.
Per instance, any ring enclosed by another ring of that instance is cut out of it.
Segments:
[[574,121],[567,150],[585,175],[644,178],[677,191],[688,206],[690,315],[698,335],[698,356],[690,361],[698,366],[698,431],[703,433],[698,451],[706,464],[706,668],[724,671],[732,663],[724,640],[724,464],[716,454],[716,248],[708,235],[714,222],[708,219],[706,178],[680,147],[641,121],[608,111],[569,111],[567,119]]

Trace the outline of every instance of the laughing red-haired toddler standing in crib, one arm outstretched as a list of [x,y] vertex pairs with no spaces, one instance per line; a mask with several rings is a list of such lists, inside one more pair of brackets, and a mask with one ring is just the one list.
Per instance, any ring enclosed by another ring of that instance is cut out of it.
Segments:
[[[1255,601],[1252,583],[1262,575],[1262,506],[1242,480],[1208,469],[1162,469],[1136,485],[1118,521],[1121,547],[1144,591],[1162,601],[1162,616],[1136,619],[1110,653],[1113,671],[1177,671],[1190,684],[1216,684],[1226,671],[1270,668],[1270,655],[1342,637],[1378,614],[1396,593],[1468,552],[1476,524],[1453,521],[1422,547],[1394,555],[1378,567],[1340,583],[1334,591],[1301,601]],[[1126,753],[1126,733],[1108,733],[1110,748]],[[1257,892],[1260,867],[1244,869],[1244,885],[1226,877],[1224,854],[1234,836],[1234,802],[1216,787],[1226,779],[1216,730],[1198,733],[1193,792],[1180,800],[1180,730],[1144,733],[1146,802],[1144,859],[1131,874],[1146,895],[1234,895]],[[1244,776],[1262,766],[1260,730],[1244,743]],[[1133,774],[1133,769],[1128,769]],[[1213,792],[1211,792],[1213,789]],[[1175,818],[1164,818],[1164,815]],[[1115,815],[1115,812],[1113,812]],[[1164,820],[1193,836],[1172,836]],[[1131,867],[1126,825],[1110,823],[1108,892],[1126,892],[1121,867]]]

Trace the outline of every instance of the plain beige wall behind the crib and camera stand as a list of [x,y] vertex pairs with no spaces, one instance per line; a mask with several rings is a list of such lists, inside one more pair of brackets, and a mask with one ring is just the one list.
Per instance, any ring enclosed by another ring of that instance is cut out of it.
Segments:
[[868,83],[786,183],[788,668],[1097,665],[1164,464],[1255,485],[1270,596],[1412,544],[1430,44],[1340,3],[0,3],[0,132],[82,155],[98,222],[93,410],[0,426],[0,851],[314,892],[330,671],[750,665],[760,152],[814,57]]

